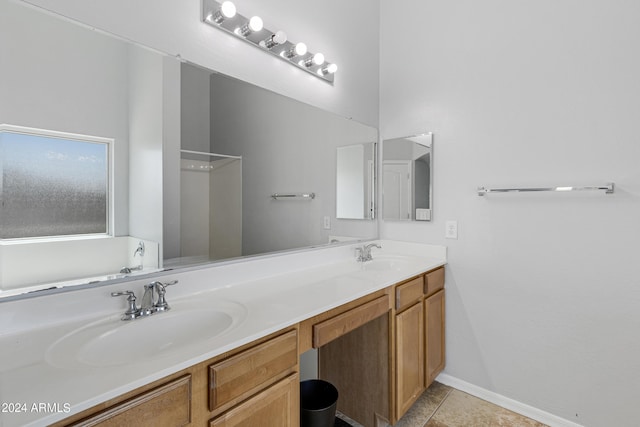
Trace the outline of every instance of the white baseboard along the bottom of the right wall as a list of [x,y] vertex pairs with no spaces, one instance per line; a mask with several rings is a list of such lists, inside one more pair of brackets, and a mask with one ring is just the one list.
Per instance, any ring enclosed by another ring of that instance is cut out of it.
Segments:
[[565,420],[564,418],[560,418],[557,415],[550,414],[541,409],[534,408],[533,406],[529,406],[505,397],[501,394],[494,393],[482,387],[478,387],[477,385],[468,383],[448,374],[443,373],[438,375],[436,381],[460,391],[464,391],[465,393],[476,396],[482,400],[486,400],[487,402],[491,402],[510,411],[516,412],[520,415],[524,415],[527,418],[531,418],[550,427],[583,427],[580,424]]

